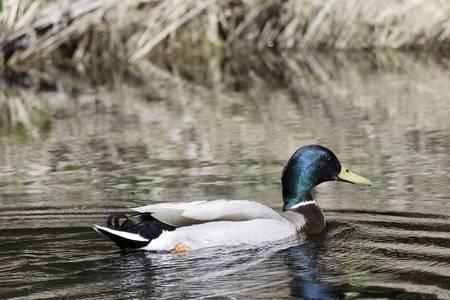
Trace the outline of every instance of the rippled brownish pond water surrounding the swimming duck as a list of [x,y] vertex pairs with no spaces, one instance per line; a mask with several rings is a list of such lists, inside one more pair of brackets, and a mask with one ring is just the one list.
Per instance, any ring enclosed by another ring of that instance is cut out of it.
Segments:
[[[448,60],[268,55],[171,72],[2,82],[0,298],[450,299]],[[309,143],[374,182],[317,188],[322,236],[173,256],[121,254],[90,228],[161,201],[279,209],[281,169]]]

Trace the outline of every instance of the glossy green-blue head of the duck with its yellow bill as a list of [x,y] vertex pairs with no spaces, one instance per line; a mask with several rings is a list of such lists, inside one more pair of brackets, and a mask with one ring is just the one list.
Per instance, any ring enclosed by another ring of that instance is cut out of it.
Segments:
[[283,209],[313,200],[311,191],[316,185],[334,180],[371,185],[370,180],[342,166],[331,150],[320,145],[299,148],[291,156],[281,174]]

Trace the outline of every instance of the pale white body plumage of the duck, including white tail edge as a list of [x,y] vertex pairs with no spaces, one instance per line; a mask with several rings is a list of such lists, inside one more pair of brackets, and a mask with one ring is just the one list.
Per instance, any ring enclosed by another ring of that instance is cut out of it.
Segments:
[[[182,203],[158,203],[133,208],[139,213],[151,213],[161,222],[175,226],[164,231],[141,248],[150,251],[170,251],[182,245],[188,250],[216,246],[257,245],[296,235],[305,224],[303,216],[294,211],[278,213],[248,200],[214,200]],[[131,234],[96,226],[125,238],[145,241]]]

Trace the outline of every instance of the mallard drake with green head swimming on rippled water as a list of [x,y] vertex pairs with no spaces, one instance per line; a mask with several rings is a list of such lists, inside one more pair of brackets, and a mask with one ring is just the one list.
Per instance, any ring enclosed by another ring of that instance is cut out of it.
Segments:
[[207,247],[257,247],[322,233],[326,220],[312,190],[328,181],[372,184],[341,164],[328,148],[306,145],[283,168],[280,211],[250,200],[167,202],[132,208],[132,215],[110,215],[106,226],[93,228],[125,251],[184,253]]

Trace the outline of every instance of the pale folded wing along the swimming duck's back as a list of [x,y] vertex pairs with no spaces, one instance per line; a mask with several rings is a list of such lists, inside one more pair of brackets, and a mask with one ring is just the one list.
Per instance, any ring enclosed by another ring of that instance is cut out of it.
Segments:
[[151,213],[155,219],[176,226],[188,226],[213,221],[248,221],[280,219],[279,213],[254,201],[213,200],[180,203],[158,203],[136,207],[139,213]]

